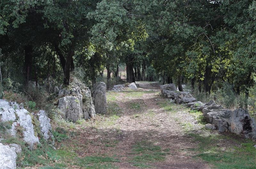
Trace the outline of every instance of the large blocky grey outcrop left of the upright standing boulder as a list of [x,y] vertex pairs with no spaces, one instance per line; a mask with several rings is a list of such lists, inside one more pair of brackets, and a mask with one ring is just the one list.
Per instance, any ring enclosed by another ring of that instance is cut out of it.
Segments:
[[60,99],[57,107],[66,119],[76,122],[96,116],[91,91],[84,84],[71,83],[69,88],[60,87],[58,93]]

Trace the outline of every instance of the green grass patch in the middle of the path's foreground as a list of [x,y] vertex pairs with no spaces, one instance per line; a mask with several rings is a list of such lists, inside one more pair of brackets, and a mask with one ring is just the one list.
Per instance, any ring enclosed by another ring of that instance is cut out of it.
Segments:
[[134,166],[140,168],[151,168],[149,163],[164,161],[165,156],[169,154],[170,149],[162,149],[158,145],[154,145],[147,141],[141,141],[133,145],[131,162]]

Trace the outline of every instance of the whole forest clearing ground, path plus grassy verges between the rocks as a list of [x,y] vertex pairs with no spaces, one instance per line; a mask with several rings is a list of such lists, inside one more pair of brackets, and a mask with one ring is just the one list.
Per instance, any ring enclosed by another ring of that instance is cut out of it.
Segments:
[[108,113],[53,123],[56,158],[34,168],[256,168],[255,142],[204,129],[201,112],[161,97],[156,83],[107,92]]

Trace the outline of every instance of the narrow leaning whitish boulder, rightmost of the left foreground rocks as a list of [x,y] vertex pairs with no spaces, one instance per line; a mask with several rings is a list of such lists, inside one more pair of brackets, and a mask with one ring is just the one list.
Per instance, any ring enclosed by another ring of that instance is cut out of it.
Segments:
[[37,119],[40,124],[41,135],[44,137],[45,140],[51,141],[51,143],[54,144],[54,137],[52,135],[50,118],[46,116],[44,110],[39,110],[39,112],[37,113]]

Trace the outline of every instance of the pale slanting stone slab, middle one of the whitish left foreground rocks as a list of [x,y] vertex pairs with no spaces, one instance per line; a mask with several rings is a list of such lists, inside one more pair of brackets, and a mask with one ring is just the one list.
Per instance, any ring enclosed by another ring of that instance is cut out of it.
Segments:
[[26,109],[16,110],[19,117],[17,123],[23,128],[24,141],[28,144],[39,143],[38,137],[35,136],[34,126],[30,114]]

